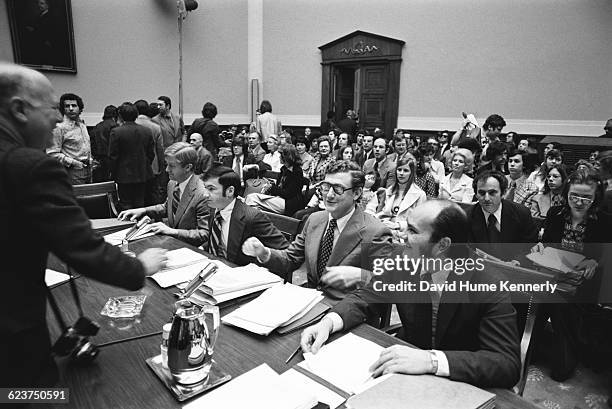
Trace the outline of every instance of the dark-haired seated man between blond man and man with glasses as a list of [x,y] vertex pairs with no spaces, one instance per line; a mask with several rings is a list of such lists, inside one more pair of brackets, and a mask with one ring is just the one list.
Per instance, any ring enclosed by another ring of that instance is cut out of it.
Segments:
[[[226,166],[213,167],[203,177],[210,195],[210,241],[206,250],[240,266],[256,262],[242,251],[249,237],[259,237],[267,247],[285,249],[289,242],[259,209],[238,199],[240,177]],[[230,234],[231,232],[231,234]]]

